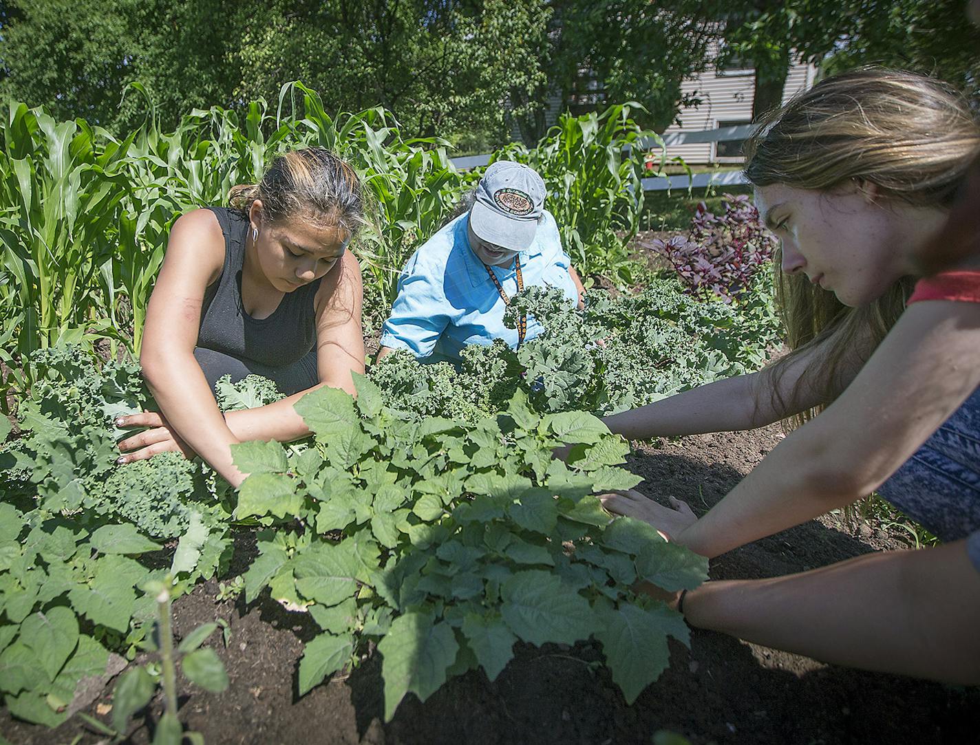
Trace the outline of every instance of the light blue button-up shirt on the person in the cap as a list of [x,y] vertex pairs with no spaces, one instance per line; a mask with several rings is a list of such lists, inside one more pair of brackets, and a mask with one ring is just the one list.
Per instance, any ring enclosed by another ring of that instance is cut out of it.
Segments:
[[[469,248],[469,213],[452,220],[409,259],[398,279],[398,297],[384,322],[381,345],[408,349],[426,362],[458,362],[468,344],[490,345],[503,339],[517,346],[517,331],[504,325],[506,304],[487,274],[485,264]],[[548,210],[534,242],[521,252],[524,287],[561,287],[573,303],[578,291],[568,274],[570,260],[562,249],[555,217]],[[517,293],[514,264],[491,267],[508,298]],[[527,339],[544,328],[527,319]]]

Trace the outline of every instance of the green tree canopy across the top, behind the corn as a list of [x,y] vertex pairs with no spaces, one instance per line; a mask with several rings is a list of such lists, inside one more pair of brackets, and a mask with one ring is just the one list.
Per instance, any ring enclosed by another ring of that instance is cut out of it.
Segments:
[[[980,31],[964,0],[4,0],[0,90],[120,130],[146,116],[274,103],[301,79],[327,110],[383,105],[405,131],[465,150],[544,134],[546,101],[595,80],[662,128],[709,45],[757,71],[755,113],[792,59],[826,71],[884,64],[980,96]],[[722,59],[722,62],[724,59]]]

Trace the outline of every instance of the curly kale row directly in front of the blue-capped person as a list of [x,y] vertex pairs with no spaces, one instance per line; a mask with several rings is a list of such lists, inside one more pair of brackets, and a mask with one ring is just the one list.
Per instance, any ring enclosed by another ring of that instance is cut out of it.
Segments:
[[539,413],[613,413],[760,367],[779,328],[764,290],[733,306],[655,278],[637,295],[592,290],[578,310],[558,289],[531,287],[512,300],[505,323],[513,328],[527,313],[545,331],[519,349],[472,345],[458,367],[397,352],[370,376],[394,408],[420,416],[478,421],[517,390]]

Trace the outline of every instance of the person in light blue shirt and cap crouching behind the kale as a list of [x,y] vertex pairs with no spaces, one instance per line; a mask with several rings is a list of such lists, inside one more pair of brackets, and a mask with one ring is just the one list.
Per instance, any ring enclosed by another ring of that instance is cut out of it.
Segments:
[[545,184],[522,163],[487,168],[472,207],[409,259],[384,323],[378,359],[407,349],[426,362],[460,361],[466,345],[503,339],[516,348],[543,327],[533,317],[504,326],[504,310],[524,287],[561,287],[581,303],[582,284],[564,253]]

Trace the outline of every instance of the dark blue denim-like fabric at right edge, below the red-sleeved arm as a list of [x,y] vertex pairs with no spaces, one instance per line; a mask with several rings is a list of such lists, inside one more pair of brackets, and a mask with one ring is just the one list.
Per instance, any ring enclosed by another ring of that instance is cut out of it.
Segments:
[[945,541],[970,536],[980,570],[980,388],[878,493]]

